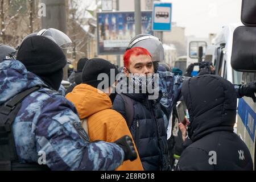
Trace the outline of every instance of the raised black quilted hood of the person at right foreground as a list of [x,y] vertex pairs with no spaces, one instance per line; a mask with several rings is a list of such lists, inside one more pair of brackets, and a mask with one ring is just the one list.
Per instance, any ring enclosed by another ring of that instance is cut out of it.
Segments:
[[193,142],[214,131],[233,132],[237,96],[232,83],[216,75],[193,77],[181,92],[189,112],[188,137]]

